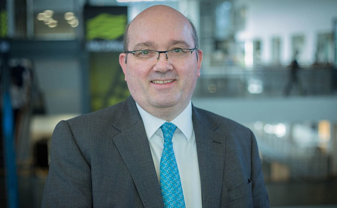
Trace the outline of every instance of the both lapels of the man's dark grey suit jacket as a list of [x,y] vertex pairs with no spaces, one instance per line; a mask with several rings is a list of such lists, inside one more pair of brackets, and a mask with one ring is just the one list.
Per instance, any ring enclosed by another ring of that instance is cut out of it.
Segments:
[[[225,139],[209,113],[192,105],[192,122],[200,170],[203,207],[220,207]],[[127,166],[145,208],[163,207],[143,120],[130,96],[120,105],[113,126],[121,131],[113,141]],[[137,139],[135,139],[137,138]]]

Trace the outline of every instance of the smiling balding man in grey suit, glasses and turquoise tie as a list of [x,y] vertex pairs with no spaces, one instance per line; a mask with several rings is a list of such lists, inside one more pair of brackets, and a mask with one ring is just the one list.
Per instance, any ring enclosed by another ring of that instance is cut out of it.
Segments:
[[171,7],[134,18],[119,57],[131,97],[56,126],[42,207],[269,207],[252,132],[191,104],[197,47]]

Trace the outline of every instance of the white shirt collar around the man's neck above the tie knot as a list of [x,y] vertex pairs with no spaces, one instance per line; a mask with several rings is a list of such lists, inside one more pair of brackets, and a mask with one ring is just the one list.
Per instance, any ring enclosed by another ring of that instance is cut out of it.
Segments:
[[[137,102],[136,106],[143,119],[146,135],[148,139],[150,139],[153,136],[153,134],[157,131],[157,129],[160,128],[160,126],[163,123],[168,121],[165,121],[163,119],[157,118],[149,114],[144,109],[142,109]],[[184,111],[181,112],[176,118],[174,118],[170,122],[176,125],[181,130],[181,132],[183,132],[183,134],[187,138],[187,141],[189,141],[193,132],[191,101],[189,101]]]

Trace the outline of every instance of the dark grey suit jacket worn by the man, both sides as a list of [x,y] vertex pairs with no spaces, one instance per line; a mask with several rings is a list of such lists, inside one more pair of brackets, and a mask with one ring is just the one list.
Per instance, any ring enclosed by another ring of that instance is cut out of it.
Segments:
[[[192,121],[203,208],[269,207],[253,133],[194,106]],[[132,97],[56,126],[42,207],[163,208]]]

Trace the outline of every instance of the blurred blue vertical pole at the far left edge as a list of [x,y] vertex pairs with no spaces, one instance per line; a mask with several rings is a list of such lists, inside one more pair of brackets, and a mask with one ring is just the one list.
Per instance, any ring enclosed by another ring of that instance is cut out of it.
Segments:
[[18,177],[16,170],[15,148],[14,148],[14,116],[11,105],[9,86],[11,81],[8,66],[9,42],[0,41],[1,55],[1,83],[2,83],[2,132],[4,148],[5,181],[7,193],[7,207],[18,208]]

